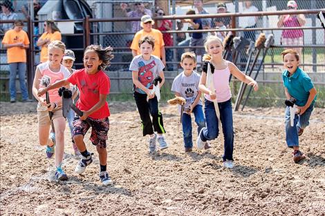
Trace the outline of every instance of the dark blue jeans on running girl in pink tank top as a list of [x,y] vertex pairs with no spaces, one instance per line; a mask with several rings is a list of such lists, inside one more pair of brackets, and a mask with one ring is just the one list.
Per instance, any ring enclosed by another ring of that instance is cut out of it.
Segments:
[[[232,100],[218,103],[220,111],[220,119],[222,123],[223,137],[224,137],[224,151],[223,161],[226,159],[234,160],[232,153],[234,152],[234,129],[232,127]],[[201,139],[203,141],[216,139],[219,135],[218,118],[216,117],[216,111],[214,109],[214,103],[205,99],[205,119],[207,121],[207,127],[203,128],[201,132]]]

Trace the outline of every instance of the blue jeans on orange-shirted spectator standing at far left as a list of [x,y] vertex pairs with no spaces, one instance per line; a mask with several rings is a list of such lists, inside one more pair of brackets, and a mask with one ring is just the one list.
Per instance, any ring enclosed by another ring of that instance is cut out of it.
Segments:
[[26,77],[26,62],[15,62],[9,63],[10,77],[9,77],[9,90],[10,99],[16,99],[16,77],[18,70],[18,77],[21,89],[21,99],[28,99],[28,91],[26,88],[25,77]]

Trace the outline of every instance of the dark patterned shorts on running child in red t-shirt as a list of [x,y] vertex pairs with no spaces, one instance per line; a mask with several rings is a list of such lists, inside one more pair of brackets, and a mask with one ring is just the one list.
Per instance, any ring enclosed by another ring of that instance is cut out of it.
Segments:
[[109,132],[109,118],[92,119],[87,118],[87,121],[81,120],[76,116],[73,120],[73,137],[75,135],[86,135],[86,132],[91,128],[91,143],[97,148],[106,148],[107,133]]

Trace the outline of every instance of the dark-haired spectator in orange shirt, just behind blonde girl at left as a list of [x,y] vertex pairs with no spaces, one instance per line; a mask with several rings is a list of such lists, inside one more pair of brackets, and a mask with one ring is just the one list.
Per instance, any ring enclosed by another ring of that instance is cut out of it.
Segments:
[[51,41],[61,41],[61,32],[54,21],[45,21],[44,22],[44,33],[37,40],[37,46],[41,47],[41,63],[48,61],[48,44]]

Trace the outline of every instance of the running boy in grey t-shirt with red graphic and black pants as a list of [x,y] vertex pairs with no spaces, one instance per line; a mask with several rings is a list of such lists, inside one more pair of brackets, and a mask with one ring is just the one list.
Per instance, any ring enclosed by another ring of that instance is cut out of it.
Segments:
[[[138,46],[140,55],[134,57],[131,61],[129,70],[132,71],[133,97],[136,100],[140,118],[142,121],[143,136],[149,135],[149,153],[156,151],[156,139],[160,149],[168,148],[168,144],[163,137],[165,128],[163,124],[163,115],[158,110],[158,99],[151,90],[154,87],[155,77],[161,77],[160,88],[165,82],[163,61],[158,57],[151,55],[154,50],[155,40],[153,37],[143,37]],[[148,98],[148,100],[147,100]],[[152,116],[152,121],[150,118]],[[154,125],[154,128],[152,127]],[[158,135],[154,132],[156,131]]]

